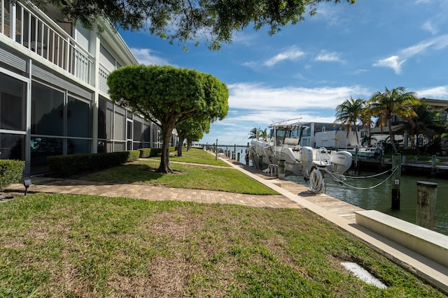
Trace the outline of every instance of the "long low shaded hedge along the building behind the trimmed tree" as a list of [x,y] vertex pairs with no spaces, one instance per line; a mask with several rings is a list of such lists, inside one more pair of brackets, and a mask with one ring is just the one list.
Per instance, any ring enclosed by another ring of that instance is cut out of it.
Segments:
[[99,154],[71,154],[48,156],[50,172],[57,177],[68,177],[81,172],[101,170],[106,167],[137,161],[139,150]]

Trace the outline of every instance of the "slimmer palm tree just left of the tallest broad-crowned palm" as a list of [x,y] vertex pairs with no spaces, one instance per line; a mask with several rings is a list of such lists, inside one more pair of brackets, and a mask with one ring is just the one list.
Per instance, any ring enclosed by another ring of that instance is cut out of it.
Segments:
[[356,131],[356,121],[363,115],[365,108],[365,100],[358,98],[354,100],[351,96],[350,99],[344,101],[336,107],[336,121],[340,121],[341,125],[345,126],[347,137],[351,131],[351,128],[355,128],[356,142],[359,144],[359,137]]

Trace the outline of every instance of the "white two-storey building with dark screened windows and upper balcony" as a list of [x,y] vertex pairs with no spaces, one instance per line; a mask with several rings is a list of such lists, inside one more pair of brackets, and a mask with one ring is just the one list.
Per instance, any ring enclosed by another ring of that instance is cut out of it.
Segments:
[[0,6],[0,158],[24,160],[32,175],[52,155],[160,147],[158,124],[107,94],[109,73],[138,63],[112,27],[97,33],[56,22],[51,7]]

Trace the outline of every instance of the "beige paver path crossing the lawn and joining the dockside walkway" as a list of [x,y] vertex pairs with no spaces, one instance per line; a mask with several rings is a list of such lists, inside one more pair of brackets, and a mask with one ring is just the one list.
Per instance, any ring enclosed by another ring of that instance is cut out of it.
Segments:
[[[284,190],[298,198],[308,200],[332,213],[345,218],[351,223],[355,222],[354,211],[362,210],[351,204],[347,204],[328,195],[316,195],[311,193],[306,186],[292,181],[279,180],[269,177],[267,174],[233,162],[233,167],[243,168],[245,172],[251,172],[264,181],[269,181],[280,186]],[[228,193],[224,191],[206,191],[200,189],[169,188],[163,186],[148,186],[139,184],[117,184],[97,181],[83,181],[76,179],[56,179],[48,177],[32,177],[32,184],[28,188],[29,193],[66,193],[103,195],[108,197],[141,198],[146,200],[179,200],[199,203],[242,204],[248,207],[268,208],[302,208],[297,202],[290,200],[285,195],[244,195],[241,193]],[[24,191],[22,184],[13,184],[6,188],[8,191]]]

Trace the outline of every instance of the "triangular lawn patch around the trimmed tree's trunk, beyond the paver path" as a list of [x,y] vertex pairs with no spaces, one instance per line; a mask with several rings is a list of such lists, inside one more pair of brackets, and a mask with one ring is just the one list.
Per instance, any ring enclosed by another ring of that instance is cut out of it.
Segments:
[[[172,169],[176,174],[155,172],[160,158],[148,158],[111,167],[107,170],[87,174],[79,179],[106,181],[113,183],[146,184],[174,188],[205,189],[209,191],[228,191],[252,195],[277,195],[276,191],[260,184],[246,174],[239,172],[227,163],[218,160],[202,149],[183,152],[182,158],[170,157]],[[175,163],[174,161],[182,161]],[[196,163],[201,162],[202,165]],[[193,164],[195,163],[195,164]]]

